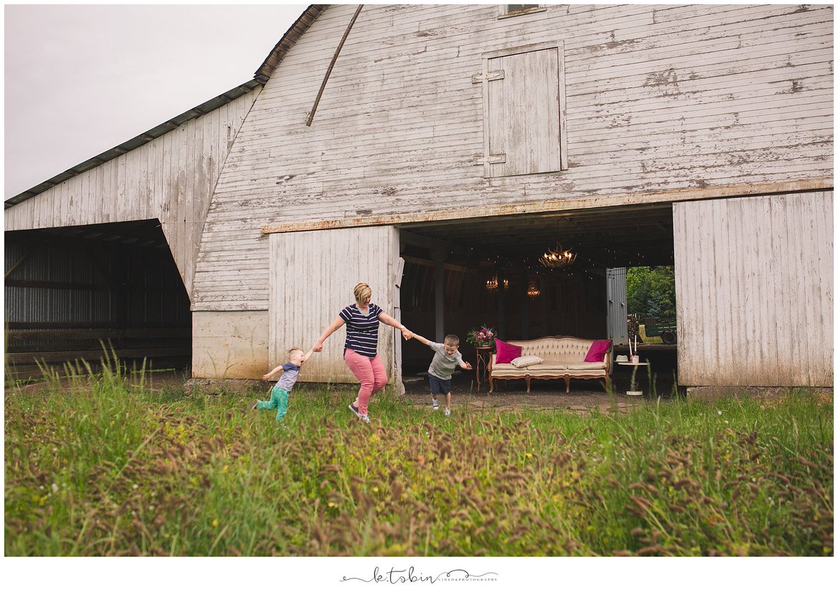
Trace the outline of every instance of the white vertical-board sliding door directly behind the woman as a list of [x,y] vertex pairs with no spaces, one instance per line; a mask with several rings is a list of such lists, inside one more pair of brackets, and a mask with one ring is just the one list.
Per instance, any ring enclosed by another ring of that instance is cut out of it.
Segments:
[[[400,267],[398,230],[392,227],[344,228],[272,233],[270,236],[270,365],[286,362],[292,346],[308,350],[364,282],[372,301],[399,319],[396,274]],[[346,327],[341,327],[312,356],[300,382],[357,382],[344,363]],[[401,341],[401,334],[398,335]],[[401,361],[396,330],[380,326],[379,353],[390,382],[401,390]]]

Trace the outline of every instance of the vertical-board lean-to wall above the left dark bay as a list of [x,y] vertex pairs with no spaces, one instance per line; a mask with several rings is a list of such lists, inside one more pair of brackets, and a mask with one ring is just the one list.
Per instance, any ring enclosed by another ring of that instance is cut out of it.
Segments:
[[53,228],[157,218],[187,293],[209,199],[258,95],[252,90],[147,144],[5,210],[5,228]]

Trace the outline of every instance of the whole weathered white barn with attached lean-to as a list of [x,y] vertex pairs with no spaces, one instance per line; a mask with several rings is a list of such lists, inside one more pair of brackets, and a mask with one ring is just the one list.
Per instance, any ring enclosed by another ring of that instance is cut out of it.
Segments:
[[[426,336],[601,338],[606,271],[674,264],[681,384],[832,386],[832,35],[826,5],[311,5],[252,81],[6,202],[10,357],[257,378],[362,280]],[[342,346],[307,379],[353,382]]]

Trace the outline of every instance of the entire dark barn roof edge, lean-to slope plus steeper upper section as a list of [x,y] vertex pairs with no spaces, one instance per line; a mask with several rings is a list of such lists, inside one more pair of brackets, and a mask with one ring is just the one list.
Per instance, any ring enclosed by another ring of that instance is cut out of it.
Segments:
[[78,176],[80,173],[86,172],[93,167],[99,166],[102,163],[109,162],[111,159],[118,157],[120,155],[124,155],[128,151],[132,151],[136,149],[137,146],[145,145],[149,141],[153,141],[154,139],[158,138],[158,136],[163,136],[169,131],[173,131],[178,126],[184,124],[189,120],[193,120],[194,118],[198,118],[201,115],[208,114],[212,110],[218,109],[221,105],[225,105],[230,103],[230,101],[235,100],[241,95],[245,95],[246,93],[250,92],[251,90],[256,89],[256,87],[260,85],[265,85],[265,83],[271,78],[271,75],[277,69],[277,66],[282,62],[282,59],[285,58],[285,55],[288,53],[294,44],[297,43],[300,37],[303,36],[303,33],[311,27],[312,23],[321,15],[323,11],[328,7],[328,4],[311,4],[303,11],[303,14],[294,21],[294,24],[282,35],[282,38],[279,40],[279,43],[274,46],[272,49],[271,54],[268,54],[268,57],[265,61],[261,64],[259,69],[253,74],[253,79],[248,80],[246,83],[242,85],[238,85],[217,97],[209,101],[204,101],[201,105],[196,105],[191,110],[184,111],[183,114],[176,115],[175,117],[163,122],[158,126],[154,126],[151,130],[142,132],[137,136],[134,136],[132,139],[123,142],[120,145],[113,147],[112,149],[108,149],[91,157],[90,159],[81,162],[75,167],[70,167],[70,169],[66,170],[65,172],[59,173],[57,176],[50,177],[49,180],[45,182],[39,183],[37,186],[31,187],[28,190],[20,192],[19,194],[8,198],[5,201],[4,209],[13,207],[18,203],[23,203],[23,201],[28,200],[31,197],[39,195],[41,192],[45,190],[49,190],[49,188],[58,186],[61,182],[65,182],[69,180],[71,177]]

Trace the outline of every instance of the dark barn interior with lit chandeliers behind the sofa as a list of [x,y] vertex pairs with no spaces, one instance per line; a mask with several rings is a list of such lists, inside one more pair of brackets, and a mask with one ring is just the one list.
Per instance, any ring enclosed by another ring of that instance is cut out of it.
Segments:
[[[434,341],[439,332],[458,335],[463,356],[472,361],[466,336],[484,324],[501,339],[610,336],[625,345],[625,304],[620,310],[613,303],[615,295],[625,299],[625,269],[674,264],[671,203],[400,228],[402,320]],[[566,268],[547,269],[538,259],[556,244],[575,251],[577,259]],[[613,287],[621,274],[622,294]],[[442,316],[437,315],[440,300]],[[609,315],[622,318],[616,321],[622,334],[608,327]],[[675,346],[657,347],[670,352],[662,367],[675,367]],[[406,375],[427,370],[427,347],[417,341],[406,341],[401,358]]]

